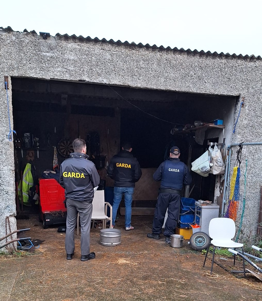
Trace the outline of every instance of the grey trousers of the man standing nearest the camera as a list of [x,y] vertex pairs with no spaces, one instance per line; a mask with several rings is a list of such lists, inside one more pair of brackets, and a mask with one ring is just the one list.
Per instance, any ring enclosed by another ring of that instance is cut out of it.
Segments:
[[81,255],[88,255],[90,253],[90,225],[93,205],[88,202],[67,199],[66,208],[66,253],[73,254],[75,251],[75,226],[79,212],[81,223]]

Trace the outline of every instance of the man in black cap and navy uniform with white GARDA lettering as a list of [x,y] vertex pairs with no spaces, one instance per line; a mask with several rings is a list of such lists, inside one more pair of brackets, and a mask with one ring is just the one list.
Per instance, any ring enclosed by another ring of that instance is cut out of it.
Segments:
[[171,243],[170,236],[174,234],[178,222],[183,184],[190,185],[192,181],[188,167],[178,159],[179,156],[179,148],[172,146],[170,149],[170,157],[160,164],[153,175],[155,181],[161,181],[161,186],[155,209],[152,233],[148,233],[147,237],[160,239],[166,209],[168,209],[168,217],[164,231],[166,244]]

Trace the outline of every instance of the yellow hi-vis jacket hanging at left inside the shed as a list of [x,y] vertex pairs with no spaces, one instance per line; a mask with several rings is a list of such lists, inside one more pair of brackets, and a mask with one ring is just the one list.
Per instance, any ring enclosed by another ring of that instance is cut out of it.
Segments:
[[32,206],[32,204],[29,202],[29,194],[31,195],[30,189],[33,187],[33,185],[34,180],[32,176],[32,165],[30,163],[27,163],[23,172],[23,178],[20,180],[20,183],[18,185],[19,200],[22,202],[23,194],[23,204],[26,206]]

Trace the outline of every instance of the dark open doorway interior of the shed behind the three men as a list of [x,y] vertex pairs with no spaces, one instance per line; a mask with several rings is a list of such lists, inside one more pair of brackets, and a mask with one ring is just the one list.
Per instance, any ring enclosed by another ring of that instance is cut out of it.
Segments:
[[[21,148],[14,146],[16,182],[20,181],[28,162],[35,166],[37,178],[44,171],[53,170],[53,147],[58,150],[60,165],[69,155],[59,149],[60,142],[80,137],[87,141],[87,154],[96,163],[101,179],[105,180],[106,186],[112,187],[114,182],[106,178],[105,167],[120,150],[121,143],[130,141],[133,155],[143,172],[136,184],[133,204],[141,208],[154,207],[160,183],[154,182],[152,175],[169,155],[172,144],[180,147],[181,161],[190,166],[190,162],[208,148],[207,140],[221,142],[226,137],[229,141],[231,131],[227,131],[227,127],[232,127],[237,100],[236,96],[109,87],[83,82],[11,80],[14,128],[17,138],[23,142]],[[215,119],[223,120],[224,127],[207,125]],[[202,140],[198,138],[197,142],[196,129],[193,128],[196,121],[204,123]],[[99,147],[92,147],[88,142],[91,133],[98,135],[96,142]],[[25,144],[25,134],[29,134],[31,144]],[[34,138],[38,138],[38,150]],[[95,162],[97,157],[100,159]],[[191,173],[193,183],[189,190],[194,187],[190,197],[213,201],[215,177],[209,175],[205,179]]]

